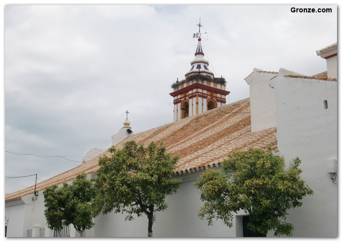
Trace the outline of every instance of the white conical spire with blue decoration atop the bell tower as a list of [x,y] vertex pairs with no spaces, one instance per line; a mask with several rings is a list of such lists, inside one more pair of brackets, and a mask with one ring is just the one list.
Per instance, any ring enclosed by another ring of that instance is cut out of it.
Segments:
[[214,78],[214,73],[209,70],[209,61],[204,59],[203,48],[201,45],[201,38],[198,38],[198,44],[195,53],[195,59],[190,62],[191,68],[185,73],[185,77],[192,74],[202,74],[210,78]]

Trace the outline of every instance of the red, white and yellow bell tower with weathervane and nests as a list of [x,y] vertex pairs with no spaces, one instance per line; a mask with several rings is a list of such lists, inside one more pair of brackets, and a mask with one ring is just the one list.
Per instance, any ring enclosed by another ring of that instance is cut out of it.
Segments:
[[[201,22],[197,24],[201,31]],[[215,78],[209,69],[209,61],[204,59],[201,44],[201,32],[193,37],[199,37],[195,52],[195,59],[190,62],[191,67],[185,73],[185,79],[172,84],[173,92],[173,121],[181,120],[226,104],[225,78]]]

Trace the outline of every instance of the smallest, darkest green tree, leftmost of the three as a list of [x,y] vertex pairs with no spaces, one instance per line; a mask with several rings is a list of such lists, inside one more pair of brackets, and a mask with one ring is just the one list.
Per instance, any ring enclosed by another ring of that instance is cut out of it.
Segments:
[[84,231],[94,225],[91,203],[95,190],[84,173],[77,175],[71,185],[63,183],[60,188],[52,185],[43,194],[49,229],[59,233],[63,226],[72,224],[83,237]]

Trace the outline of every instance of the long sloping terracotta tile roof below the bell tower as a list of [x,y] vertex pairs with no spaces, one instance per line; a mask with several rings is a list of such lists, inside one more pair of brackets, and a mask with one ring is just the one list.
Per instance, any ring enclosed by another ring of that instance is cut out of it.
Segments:
[[[168,152],[179,155],[175,176],[219,167],[229,153],[249,147],[278,149],[276,127],[251,132],[249,98],[132,135],[115,147],[122,148],[129,140],[143,145],[163,141]],[[96,173],[99,158],[105,155],[109,156],[109,153],[106,151],[78,167],[38,183],[36,190],[71,181],[82,172]],[[30,186],[6,195],[5,201],[20,199],[33,191],[34,186]]]

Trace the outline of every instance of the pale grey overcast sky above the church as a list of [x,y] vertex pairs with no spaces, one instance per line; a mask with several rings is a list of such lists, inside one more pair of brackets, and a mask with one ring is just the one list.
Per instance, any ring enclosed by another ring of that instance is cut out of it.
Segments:
[[[230,102],[249,96],[254,67],[325,71],[316,50],[337,41],[336,5],[292,6],[6,5],[5,176],[42,182],[79,166],[88,149],[108,147],[126,110],[135,133],[172,122],[171,84],[194,59],[199,18],[205,58],[226,78]],[[4,192],[34,182],[5,180]]]

